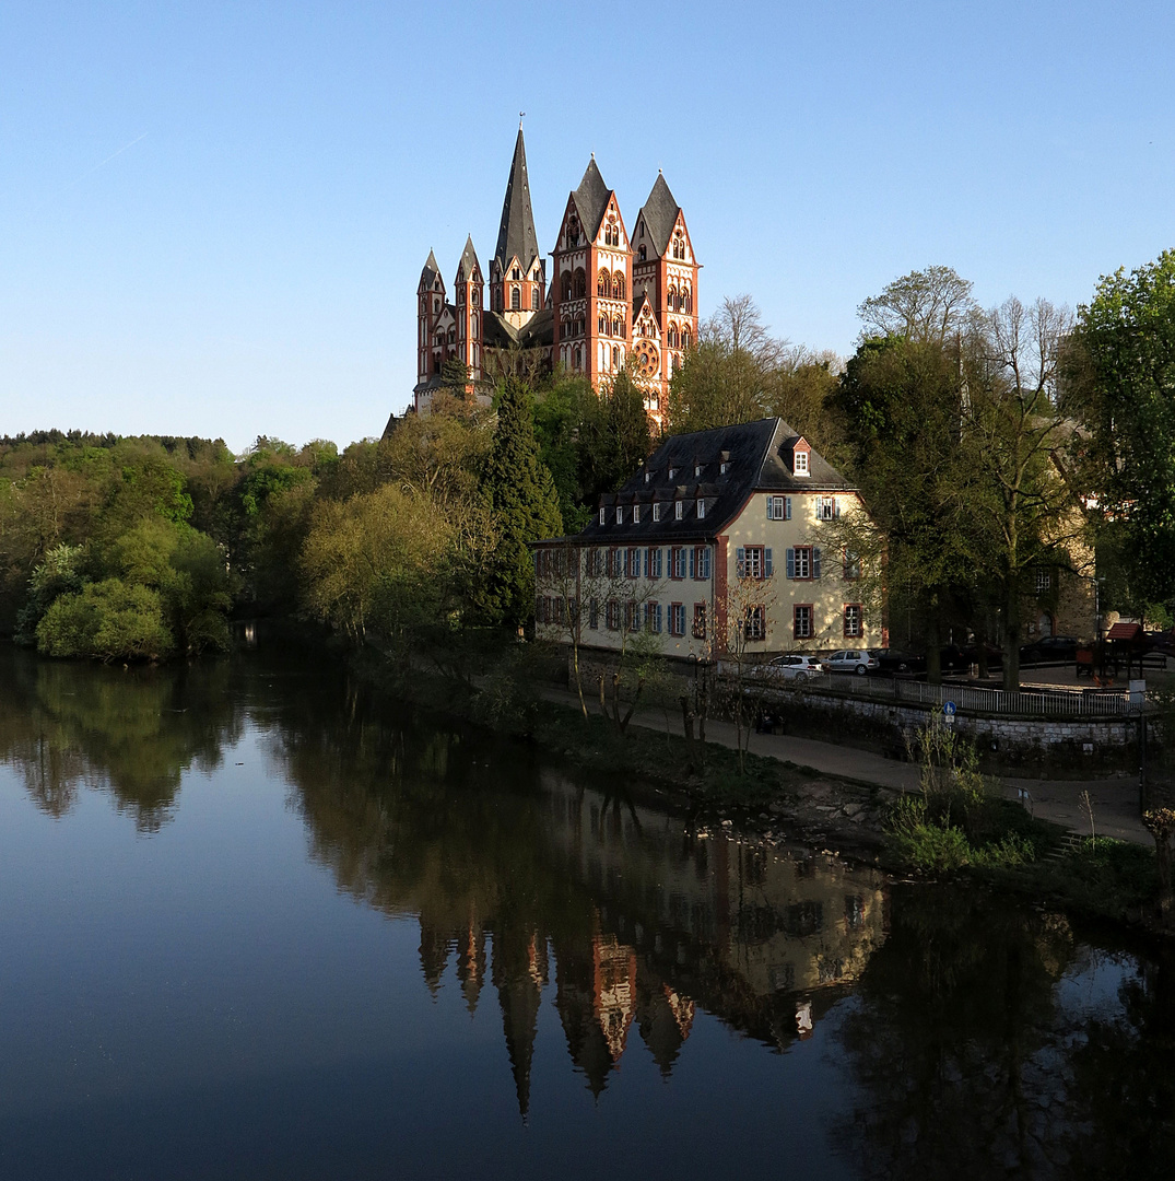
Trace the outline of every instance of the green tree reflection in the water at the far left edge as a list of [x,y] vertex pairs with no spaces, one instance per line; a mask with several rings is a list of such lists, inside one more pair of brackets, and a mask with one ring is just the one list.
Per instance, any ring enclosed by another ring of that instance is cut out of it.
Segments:
[[0,660],[0,759],[52,816],[80,788],[104,789],[139,831],[157,831],[183,772],[213,770],[240,736],[227,661],[122,670],[12,651]]

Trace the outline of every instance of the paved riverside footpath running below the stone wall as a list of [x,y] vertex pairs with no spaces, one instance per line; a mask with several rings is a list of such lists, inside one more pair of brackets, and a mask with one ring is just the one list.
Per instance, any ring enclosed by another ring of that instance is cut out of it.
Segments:
[[[579,709],[574,693],[559,689],[544,690],[544,696],[561,705]],[[592,709],[592,703],[588,703]],[[599,706],[596,706],[599,709]],[[681,717],[671,712],[666,719],[664,710],[638,710],[633,725],[665,733],[681,733]],[[706,720],[706,740],[723,746],[736,745],[735,725],[730,722]],[[796,738],[790,735],[752,733],[749,750],[756,755],[795,763],[797,766],[836,775],[861,783],[873,783],[897,791],[915,790],[919,785],[919,769],[914,763],[902,763],[886,758],[874,751],[857,750],[841,743],[820,742],[815,738]],[[1154,840],[1138,818],[1137,774],[1108,779],[1025,779],[1005,778],[1004,795],[1010,800],[1021,798],[1034,816],[1060,824],[1082,836],[1089,836],[1089,815],[1082,802],[1082,792],[1088,791],[1094,804],[1094,823],[1098,836],[1114,836],[1119,841],[1135,841],[1151,846]],[[1027,794],[1025,800],[1021,792]]]

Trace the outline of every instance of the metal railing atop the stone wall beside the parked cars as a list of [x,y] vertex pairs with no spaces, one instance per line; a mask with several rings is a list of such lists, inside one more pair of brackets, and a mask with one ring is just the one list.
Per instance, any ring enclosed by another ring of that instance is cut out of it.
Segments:
[[[735,667],[719,663],[719,674],[733,676]],[[978,685],[928,685],[900,677],[857,677],[851,673],[822,673],[804,680],[788,680],[759,665],[746,678],[749,687],[802,692],[831,692],[872,700],[901,702],[941,707],[953,702],[960,713],[1011,715],[1033,718],[1125,718],[1136,717],[1141,704],[1130,700],[1127,690],[1019,690],[983,689]]]

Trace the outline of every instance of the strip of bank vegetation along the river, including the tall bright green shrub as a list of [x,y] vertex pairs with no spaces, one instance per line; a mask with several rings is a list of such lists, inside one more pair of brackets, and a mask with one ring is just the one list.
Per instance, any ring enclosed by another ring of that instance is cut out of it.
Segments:
[[677,732],[665,703],[664,732],[593,710],[588,717],[546,699],[540,686],[563,667],[516,646],[461,677],[367,647],[357,670],[390,694],[528,740],[573,768],[605,776],[633,798],[654,798],[688,815],[699,831],[727,824],[748,839],[805,843],[896,874],[970,877],[1086,916],[1169,931],[1154,852],[1098,837],[1072,840],[1004,800],[973,752],[947,727],[920,736],[921,788],[897,794],[794,764],[699,744]]

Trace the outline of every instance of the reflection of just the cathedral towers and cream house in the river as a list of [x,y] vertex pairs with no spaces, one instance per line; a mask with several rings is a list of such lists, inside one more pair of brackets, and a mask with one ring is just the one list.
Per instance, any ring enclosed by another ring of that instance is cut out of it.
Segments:
[[530,867],[516,894],[475,888],[459,911],[429,889],[404,900],[419,907],[433,993],[452,961],[474,1011],[489,976],[523,1114],[551,978],[570,1058],[599,1095],[634,1029],[667,1077],[696,1006],[778,1049],[811,1036],[884,938],[877,874],[698,840],[679,818],[543,787],[541,879]]

